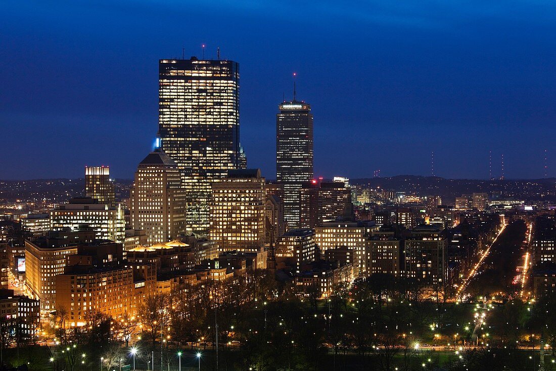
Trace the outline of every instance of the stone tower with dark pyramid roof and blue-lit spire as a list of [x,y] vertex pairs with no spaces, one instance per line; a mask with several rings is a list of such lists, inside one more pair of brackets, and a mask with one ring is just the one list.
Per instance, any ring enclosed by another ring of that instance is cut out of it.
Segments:
[[185,234],[186,191],[178,165],[162,150],[139,163],[130,199],[131,226],[145,230],[149,245]]

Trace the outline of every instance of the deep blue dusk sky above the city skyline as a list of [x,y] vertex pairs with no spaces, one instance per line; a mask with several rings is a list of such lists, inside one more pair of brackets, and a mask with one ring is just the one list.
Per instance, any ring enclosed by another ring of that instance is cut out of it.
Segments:
[[241,142],[275,177],[275,114],[315,116],[315,175],[556,176],[552,1],[3,0],[0,179],[132,178],[157,130],[158,59],[240,63]]

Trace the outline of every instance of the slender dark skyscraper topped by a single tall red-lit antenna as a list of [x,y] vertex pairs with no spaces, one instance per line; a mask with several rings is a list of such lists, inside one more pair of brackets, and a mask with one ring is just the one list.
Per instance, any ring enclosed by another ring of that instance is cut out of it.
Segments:
[[311,106],[294,99],[282,102],[276,115],[276,180],[284,186],[284,218],[288,228],[300,227],[300,189],[313,177]]

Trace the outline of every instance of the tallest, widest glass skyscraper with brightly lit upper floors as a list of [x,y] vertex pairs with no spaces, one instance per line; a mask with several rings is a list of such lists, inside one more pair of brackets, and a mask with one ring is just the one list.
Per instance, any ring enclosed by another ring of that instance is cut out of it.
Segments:
[[211,183],[244,161],[239,141],[239,65],[163,59],[158,65],[158,134],[187,190],[187,230],[208,232]]

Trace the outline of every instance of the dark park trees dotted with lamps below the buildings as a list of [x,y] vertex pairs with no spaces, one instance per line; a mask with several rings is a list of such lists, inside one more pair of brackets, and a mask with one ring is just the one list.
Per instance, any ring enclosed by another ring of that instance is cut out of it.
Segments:
[[201,369],[215,370],[218,348],[219,370],[525,370],[538,352],[524,347],[538,350],[541,331],[556,345],[554,316],[543,315],[554,313],[556,300],[485,309],[448,302],[445,290],[374,275],[320,299],[311,286],[276,281],[268,271],[208,280],[148,297],[136,316],[91,313],[82,328],[68,328],[57,313],[53,368],[98,369],[102,357],[115,369],[122,359],[130,364],[134,350],[137,369],[177,369],[178,353],[197,367],[200,352]]

